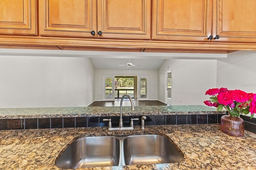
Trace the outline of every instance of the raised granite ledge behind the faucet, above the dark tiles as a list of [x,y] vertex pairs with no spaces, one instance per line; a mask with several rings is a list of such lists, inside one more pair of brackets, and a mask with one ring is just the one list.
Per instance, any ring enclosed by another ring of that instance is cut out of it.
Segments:
[[[225,114],[208,106],[123,106],[123,115],[176,115],[176,114]],[[120,107],[42,107],[0,108],[0,119],[49,118],[49,117],[94,117],[119,115]]]

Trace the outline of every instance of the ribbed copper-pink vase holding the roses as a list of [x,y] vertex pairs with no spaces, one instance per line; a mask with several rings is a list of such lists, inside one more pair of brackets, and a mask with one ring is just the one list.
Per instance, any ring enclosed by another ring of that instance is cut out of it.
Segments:
[[227,135],[242,137],[244,136],[244,120],[232,115],[223,115],[220,118],[220,129]]

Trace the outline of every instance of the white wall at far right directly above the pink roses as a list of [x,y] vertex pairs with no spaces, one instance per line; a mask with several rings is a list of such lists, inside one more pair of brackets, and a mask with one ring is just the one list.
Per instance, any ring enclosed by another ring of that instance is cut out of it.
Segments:
[[256,93],[256,52],[238,51],[217,63],[217,86]]

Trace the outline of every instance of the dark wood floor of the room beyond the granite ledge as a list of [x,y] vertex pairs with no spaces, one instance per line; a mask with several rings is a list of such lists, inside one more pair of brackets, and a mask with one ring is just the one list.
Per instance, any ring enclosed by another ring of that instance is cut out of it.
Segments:
[[[146,100],[146,101],[133,101],[134,106],[166,106],[166,104],[159,102],[157,100]],[[124,100],[123,106],[131,106],[130,100]],[[120,101],[103,101],[103,102],[93,102],[90,106],[120,106]]]

